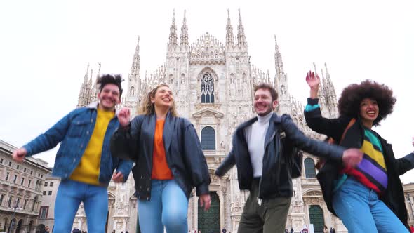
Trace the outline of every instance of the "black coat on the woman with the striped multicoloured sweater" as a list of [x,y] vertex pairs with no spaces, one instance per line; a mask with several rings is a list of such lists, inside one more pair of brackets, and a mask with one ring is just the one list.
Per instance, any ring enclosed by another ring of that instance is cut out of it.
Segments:
[[[316,105],[318,99],[308,98],[308,105]],[[342,133],[345,131],[349,121],[349,116],[340,116],[337,119],[326,119],[321,115],[321,109],[316,108],[312,111],[305,111],[305,119],[309,128],[332,137],[335,142],[340,142]],[[347,148],[361,148],[364,137],[363,126],[359,119],[345,133],[340,145]],[[378,133],[377,133],[378,135]],[[401,159],[395,159],[391,144],[378,135],[383,149],[385,166],[387,166],[388,187],[385,194],[380,195],[380,199],[396,214],[396,216],[407,225],[407,210],[404,203],[403,186],[401,185],[400,175],[414,168],[414,153],[410,153]],[[335,214],[332,206],[333,182],[338,179],[339,171],[342,165],[328,159],[326,164],[321,168],[316,178],[321,184],[323,199],[330,212]]]

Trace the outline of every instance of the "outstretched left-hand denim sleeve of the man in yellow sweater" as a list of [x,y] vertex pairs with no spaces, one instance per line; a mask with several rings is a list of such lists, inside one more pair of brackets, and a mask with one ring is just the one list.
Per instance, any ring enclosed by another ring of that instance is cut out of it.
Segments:
[[[76,110],[75,110],[76,111]],[[60,119],[58,123],[56,123],[52,128],[49,128],[48,131],[42,133],[41,135],[37,136],[31,142],[27,143],[23,146],[27,150],[26,156],[32,156],[34,154],[39,154],[40,152],[44,152],[46,150],[52,149],[56,147],[59,142],[65,138],[67,130],[70,126],[70,115],[72,113],[67,114],[65,117]]]

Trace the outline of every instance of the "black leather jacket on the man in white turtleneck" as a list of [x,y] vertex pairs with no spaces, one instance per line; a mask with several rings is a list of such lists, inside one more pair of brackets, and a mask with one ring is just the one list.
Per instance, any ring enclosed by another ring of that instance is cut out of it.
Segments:
[[[222,176],[236,164],[240,189],[250,189],[253,181],[253,168],[244,129],[255,121],[257,121],[257,117],[236,128],[233,135],[233,149],[215,171],[216,175]],[[293,147],[311,154],[319,154],[321,157],[330,157],[338,163],[342,161],[344,151],[343,148],[307,138],[293,123],[291,116],[286,114],[277,116],[274,113],[265,137],[265,154],[258,195],[260,198],[292,196],[291,165],[293,157],[291,150]]]

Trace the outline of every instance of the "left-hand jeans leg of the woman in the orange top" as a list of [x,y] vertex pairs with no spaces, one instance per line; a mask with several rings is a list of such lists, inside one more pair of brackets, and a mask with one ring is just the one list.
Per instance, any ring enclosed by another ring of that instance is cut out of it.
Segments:
[[142,233],[159,233],[164,231],[161,222],[161,180],[152,180],[151,199],[138,200],[139,222]]

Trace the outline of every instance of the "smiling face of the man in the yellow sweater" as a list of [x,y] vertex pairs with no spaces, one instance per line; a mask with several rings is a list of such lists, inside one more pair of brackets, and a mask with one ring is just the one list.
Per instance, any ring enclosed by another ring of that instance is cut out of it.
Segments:
[[113,111],[115,105],[121,103],[119,87],[115,84],[106,84],[98,93],[99,107],[105,111]]

